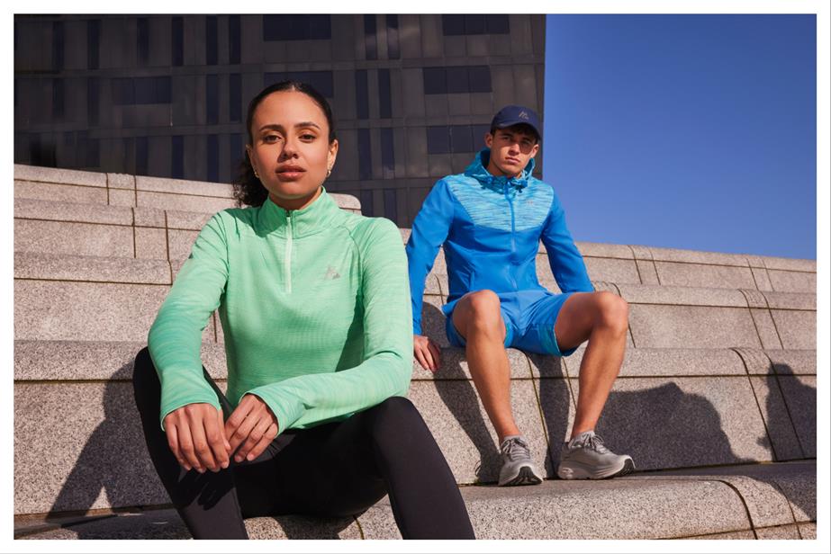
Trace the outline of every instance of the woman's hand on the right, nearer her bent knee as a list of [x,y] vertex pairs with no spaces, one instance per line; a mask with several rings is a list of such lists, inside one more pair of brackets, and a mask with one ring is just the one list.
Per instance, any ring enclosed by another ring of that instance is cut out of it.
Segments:
[[230,441],[230,451],[239,447],[234,460],[254,460],[266,450],[277,436],[277,418],[256,395],[247,394],[225,422],[225,436]]

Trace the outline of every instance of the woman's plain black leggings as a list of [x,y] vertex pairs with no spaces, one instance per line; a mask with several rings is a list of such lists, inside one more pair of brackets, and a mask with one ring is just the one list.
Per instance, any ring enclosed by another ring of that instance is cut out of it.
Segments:
[[[207,371],[227,418],[232,408]],[[248,539],[243,518],[360,514],[389,494],[404,539],[473,539],[456,479],[418,410],[387,398],[345,421],[277,435],[256,459],[217,473],[182,468],[159,426],[161,387],[147,348],[133,370],[150,458],[194,539]]]

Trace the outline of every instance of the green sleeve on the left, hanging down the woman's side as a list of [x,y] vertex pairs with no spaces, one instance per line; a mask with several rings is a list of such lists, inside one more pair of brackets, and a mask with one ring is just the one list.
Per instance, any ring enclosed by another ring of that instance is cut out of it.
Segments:
[[161,413],[196,402],[220,409],[203,377],[202,334],[228,281],[228,248],[221,214],[196,237],[191,255],[176,275],[148,334],[150,357],[161,382]]

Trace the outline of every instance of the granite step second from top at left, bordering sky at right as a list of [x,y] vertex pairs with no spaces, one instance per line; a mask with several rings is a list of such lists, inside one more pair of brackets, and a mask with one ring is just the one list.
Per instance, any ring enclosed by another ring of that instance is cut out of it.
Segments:
[[[346,210],[359,212],[354,197],[333,194]],[[102,204],[14,201],[14,249],[18,252],[184,260],[211,213]],[[402,229],[402,239],[409,237]],[[816,292],[816,262],[765,256],[725,255],[577,243],[595,281],[683,287]],[[439,251],[433,273],[447,267]],[[543,284],[559,291],[544,249],[537,256]],[[447,294],[447,293],[445,293]]]

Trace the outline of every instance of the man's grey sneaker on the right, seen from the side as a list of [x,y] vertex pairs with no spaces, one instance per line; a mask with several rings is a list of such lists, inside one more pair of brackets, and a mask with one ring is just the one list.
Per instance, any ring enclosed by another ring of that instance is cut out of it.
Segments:
[[603,445],[593,431],[580,433],[563,444],[557,477],[561,479],[605,479],[626,475],[635,470],[635,462]]

